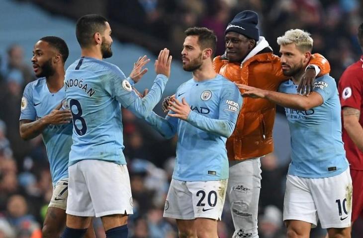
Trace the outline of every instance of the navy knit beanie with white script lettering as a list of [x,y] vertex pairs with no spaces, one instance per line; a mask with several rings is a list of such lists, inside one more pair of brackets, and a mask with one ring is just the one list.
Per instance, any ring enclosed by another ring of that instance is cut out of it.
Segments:
[[225,33],[227,34],[227,32],[233,31],[247,36],[250,39],[259,41],[260,32],[259,28],[257,28],[258,22],[259,18],[256,12],[242,11],[238,13],[230,23],[228,23]]

